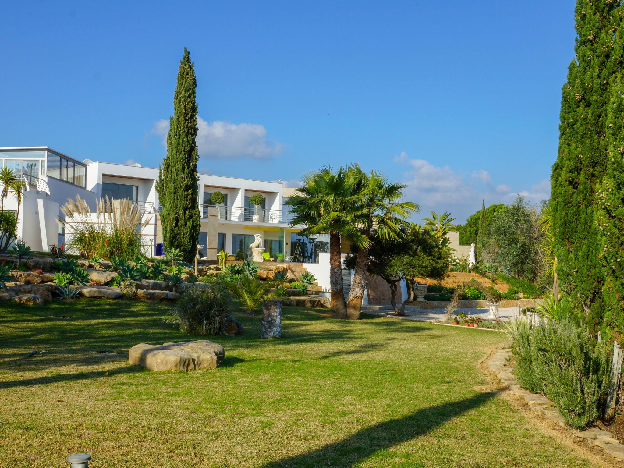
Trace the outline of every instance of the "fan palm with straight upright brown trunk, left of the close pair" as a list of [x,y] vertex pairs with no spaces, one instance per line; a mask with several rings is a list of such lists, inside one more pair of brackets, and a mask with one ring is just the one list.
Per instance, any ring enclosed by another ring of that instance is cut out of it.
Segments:
[[353,165],[336,172],[331,167],[323,167],[305,175],[303,185],[287,203],[293,214],[291,226],[303,224],[302,234],[329,234],[329,281],[334,318],[347,318],[340,238],[359,248],[368,248],[371,243],[357,225],[357,217],[363,214],[359,172]]

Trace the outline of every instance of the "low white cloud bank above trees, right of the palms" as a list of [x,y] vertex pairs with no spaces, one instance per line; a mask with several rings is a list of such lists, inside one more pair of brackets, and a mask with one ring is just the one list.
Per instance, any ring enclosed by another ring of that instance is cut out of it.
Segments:
[[418,219],[429,215],[429,211],[450,212],[458,223],[464,222],[472,213],[492,203],[511,203],[517,194],[528,202],[537,203],[550,197],[550,181],[543,180],[530,190],[513,192],[505,183],[492,185],[492,177],[484,170],[462,172],[448,165],[440,167],[424,159],[410,158],[405,152],[394,158],[394,162],[406,166],[404,183],[407,184],[406,200],[421,205]]

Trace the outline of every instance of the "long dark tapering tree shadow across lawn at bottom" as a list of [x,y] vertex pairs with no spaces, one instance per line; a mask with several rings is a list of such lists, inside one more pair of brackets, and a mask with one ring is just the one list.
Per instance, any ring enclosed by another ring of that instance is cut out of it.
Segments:
[[424,436],[454,417],[481,406],[494,395],[494,392],[483,392],[462,401],[419,409],[408,416],[367,427],[314,451],[269,462],[262,468],[353,467],[375,452]]

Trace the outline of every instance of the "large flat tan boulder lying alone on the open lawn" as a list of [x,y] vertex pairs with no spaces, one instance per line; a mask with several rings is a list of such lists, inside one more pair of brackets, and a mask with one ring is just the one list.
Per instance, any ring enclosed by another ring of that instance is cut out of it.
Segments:
[[224,356],[223,346],[200,339],[160,345],[137,344],[130,348],[128,362],[150,371],[195,371],[217,368]]

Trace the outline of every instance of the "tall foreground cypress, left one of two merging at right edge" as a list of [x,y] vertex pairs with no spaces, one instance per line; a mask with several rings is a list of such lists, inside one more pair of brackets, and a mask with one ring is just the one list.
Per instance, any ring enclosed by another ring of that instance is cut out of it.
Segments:
[[599,255],[597,187],[607,168],[607,111],[613,54],[620,23],[619,1],[578,0],[576,58],[563,85],[557,161],[552,170],[552,228],[560,280],[588,319],[603,320],[604,275]]

